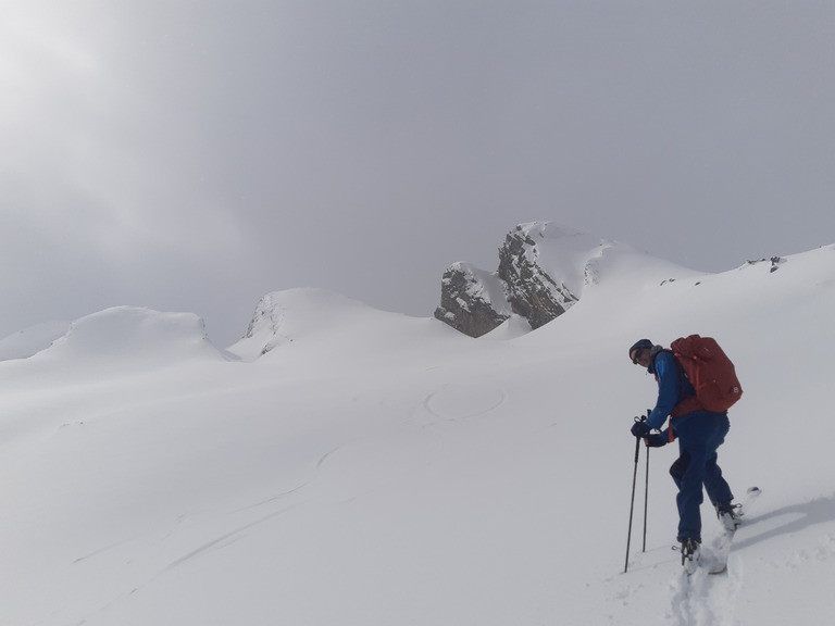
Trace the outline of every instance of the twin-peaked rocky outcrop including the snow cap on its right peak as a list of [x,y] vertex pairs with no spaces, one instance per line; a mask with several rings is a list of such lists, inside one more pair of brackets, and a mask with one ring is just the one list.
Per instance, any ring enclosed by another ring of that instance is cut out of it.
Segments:
[[447,268],[435,317],[471,337],[489,333],[511,314],[539,328],[579,300],[588,262],[601,246],[548,222],[521,224],[504,238],[497,272],[469,263]]

